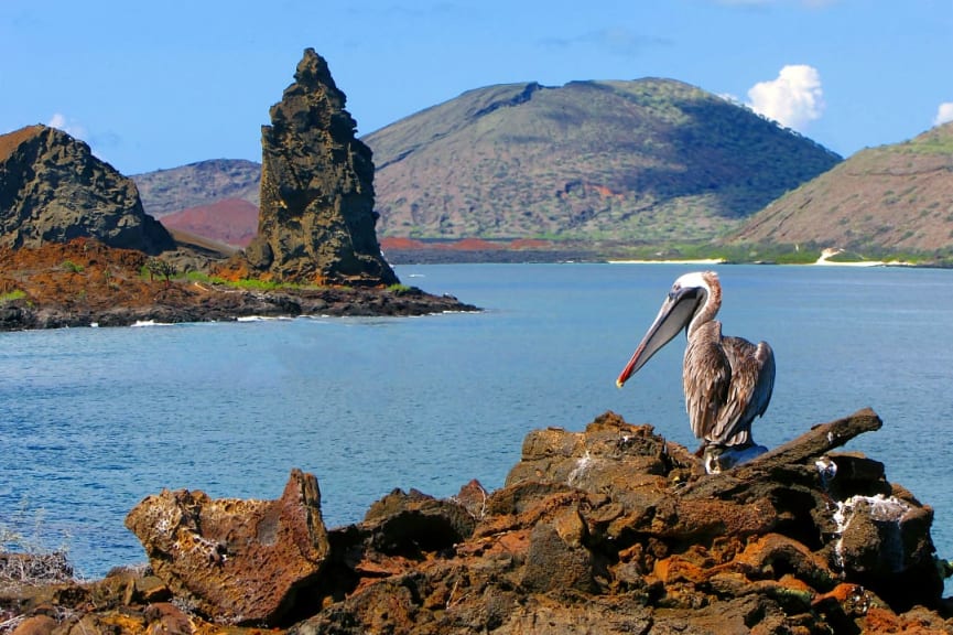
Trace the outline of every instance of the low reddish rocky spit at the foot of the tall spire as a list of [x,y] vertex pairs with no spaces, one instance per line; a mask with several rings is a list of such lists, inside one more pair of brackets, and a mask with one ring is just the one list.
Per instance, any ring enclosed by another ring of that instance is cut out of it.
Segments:
[[452,295],[432,295],[415,287],[258,290],[201,276],[143,276],[155,262],[172,265],[178,272],[187,266],[176,266],[169,255],[160,260],[85,238],[36,249],[0,247],[0,331],[478,311]]

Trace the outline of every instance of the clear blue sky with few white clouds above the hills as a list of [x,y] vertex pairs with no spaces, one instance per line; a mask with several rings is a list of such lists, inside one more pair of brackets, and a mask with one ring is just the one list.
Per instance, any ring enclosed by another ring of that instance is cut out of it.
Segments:
[[669,77],[848,157],[953,119],[953,0],[2,0],[0,132],[124,174],[261,160],[313,47],[365,134],[492,84]]

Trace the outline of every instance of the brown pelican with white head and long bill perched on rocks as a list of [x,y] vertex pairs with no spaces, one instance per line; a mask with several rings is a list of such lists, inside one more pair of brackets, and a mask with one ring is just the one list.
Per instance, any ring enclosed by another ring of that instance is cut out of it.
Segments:
[[714,271],[685,273],[669,297],[616,385],[621,388],[683,327],[689,343],[682,367],[685,409],[702,440],[705,469],[719,472],[764,452],[751,440],[751,422],[768,409],[775,387],[775,353],[760,342],[722,335],[715,320],[722,284]]

